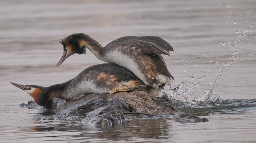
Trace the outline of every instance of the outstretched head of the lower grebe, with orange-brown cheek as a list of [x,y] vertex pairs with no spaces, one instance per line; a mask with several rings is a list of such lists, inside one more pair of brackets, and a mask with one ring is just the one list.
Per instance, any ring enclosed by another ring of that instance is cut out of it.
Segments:
[[10,82],[10,83],[15,87],[18,87],[26,91],[26,93],[28,93],[35,100],[35,103],[37,103],[38,105],[41,105],[44,107],[47,106],[47,102],[50,99],[49,99],[49,95],[45,93],[46,87],[41,87],[38,85],[21,85],[14,82]]

